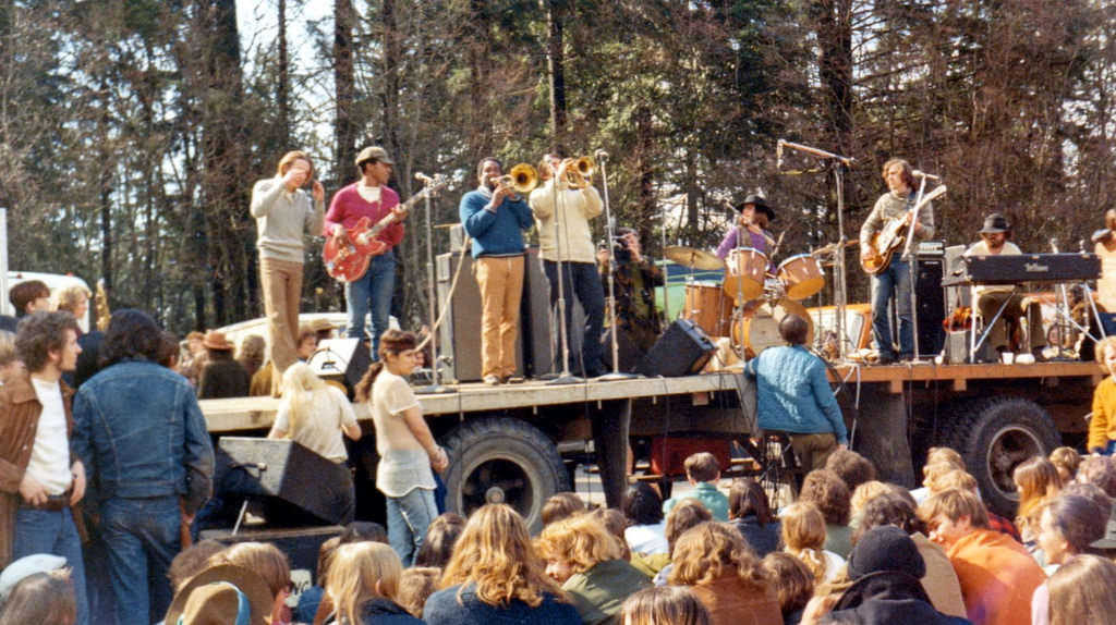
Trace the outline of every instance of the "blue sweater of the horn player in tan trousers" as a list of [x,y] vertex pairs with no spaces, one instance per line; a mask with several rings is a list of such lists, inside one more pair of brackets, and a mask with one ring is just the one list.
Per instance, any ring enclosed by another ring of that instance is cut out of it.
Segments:
[[496,213],[485,209],[492,192],[475,188],[461,197],[461,224],[473,240],[473,257],[511,256],[523,253],[523,231],[535,216],[522,197],[504,197]]

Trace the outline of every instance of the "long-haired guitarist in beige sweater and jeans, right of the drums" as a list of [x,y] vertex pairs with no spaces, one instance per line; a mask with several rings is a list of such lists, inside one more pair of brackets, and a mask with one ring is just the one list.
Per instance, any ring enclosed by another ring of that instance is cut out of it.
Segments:
[[[888,222],[906,219],[915,203],[915,179],[911,164],[902,158],[892,158],[884,164],[884,182],[888,192],[879,196],[876,205],[860,226],[862,264],[867,264],[877,254],[873,247],[873,235],[885,230]],[[910,222],[907,222],[910,225]],[[907,228],[901,228],[905,234]],[[934,207],[925,203],[918,209],[914,225],[912,248],[920,241],[934,236]],[[879,350],[879,363],[895,362],[895,346],[892,341],[892,323],[888,304],[895,299],[899,318],[899,352],[901,360],[914,358],[914,328],[911,319],[911,272],[902,258],[902,246],[885,261],[883,268],[872,276],[872,334]]]

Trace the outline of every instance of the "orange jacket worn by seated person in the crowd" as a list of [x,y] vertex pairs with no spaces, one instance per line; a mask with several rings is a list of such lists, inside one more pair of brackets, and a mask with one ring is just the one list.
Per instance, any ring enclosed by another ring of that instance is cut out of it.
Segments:
[[1007,534],[974,529],[946,555],[958,572],[965,612],[974,625],[1031,622],[1031,596],[1046,574],[1026,547]]

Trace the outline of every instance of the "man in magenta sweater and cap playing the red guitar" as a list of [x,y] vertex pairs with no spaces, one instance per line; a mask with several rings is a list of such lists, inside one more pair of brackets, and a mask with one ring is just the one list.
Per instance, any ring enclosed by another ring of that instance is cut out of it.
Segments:
[[[325,236],[337,243],[345,243],[347,231],[356,226],[360,217],[368,217],[375,224],[389,213],[402,219],[398,211],[400,196],[387,186],[394,160],[379,146],[366,147],[356,156],[356,167],[360,179],[341,188],[334,195],[326,212]],[[395,222],[384,228],[376,240],[385,244],[385,250],[372,258],[368,270],[358,279],[345,284],[345,307],[348,310],[350,339],[366,339],[364,319],[372,311],[372,359],[379,353],[379,335],[387,330],[392,311],[392,291],[395,289],[394,247],[403,241],[403,223]]]

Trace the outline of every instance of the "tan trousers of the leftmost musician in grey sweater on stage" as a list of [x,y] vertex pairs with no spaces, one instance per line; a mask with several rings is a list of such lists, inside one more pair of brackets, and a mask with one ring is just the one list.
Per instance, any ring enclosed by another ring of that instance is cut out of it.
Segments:
[[260,258],[263,310],[268,315],[268,342],[275,364],[272,387],[298,360],[298,301],[302,295],[302,263]]

